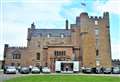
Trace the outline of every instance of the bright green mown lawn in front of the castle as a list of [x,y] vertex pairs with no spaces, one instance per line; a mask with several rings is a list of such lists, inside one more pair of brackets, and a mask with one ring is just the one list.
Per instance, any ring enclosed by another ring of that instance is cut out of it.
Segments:
[[120,82],[120,77],[84,75],[32,75],[16,77],[4,82]]

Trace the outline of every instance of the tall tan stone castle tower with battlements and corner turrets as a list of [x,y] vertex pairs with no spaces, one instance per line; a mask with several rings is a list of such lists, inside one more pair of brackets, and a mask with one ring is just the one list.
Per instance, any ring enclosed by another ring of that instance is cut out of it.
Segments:
[[109,14],[102,17],[80,15],[81,53],[84,67],[111,67]]

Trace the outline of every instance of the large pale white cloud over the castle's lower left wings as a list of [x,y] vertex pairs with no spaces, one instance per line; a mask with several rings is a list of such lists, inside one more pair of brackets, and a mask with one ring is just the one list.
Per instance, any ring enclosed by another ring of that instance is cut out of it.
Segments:
[[[0,8],[0,56],[3,46],[24,46],[27,39],[27,28],[34,21],[42,28],[55,28],[56,23],[63,22],[60,11],[71,0],[2,0]],[[58,28],[63,25],[58,24]],[[0,58],[1,58],[0,57]]]

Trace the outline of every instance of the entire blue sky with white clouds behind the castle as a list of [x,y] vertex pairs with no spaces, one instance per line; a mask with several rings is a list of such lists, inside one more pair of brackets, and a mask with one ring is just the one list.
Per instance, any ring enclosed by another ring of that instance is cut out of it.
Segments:
[[[85,3],[82,5],[81,3]],[[4,44],[27,45],[27,29],[65,28],[65,20],[75,23],[76,16],[110,14],[112,58],[120,59],[120,0],[0,0],[0,60]]]

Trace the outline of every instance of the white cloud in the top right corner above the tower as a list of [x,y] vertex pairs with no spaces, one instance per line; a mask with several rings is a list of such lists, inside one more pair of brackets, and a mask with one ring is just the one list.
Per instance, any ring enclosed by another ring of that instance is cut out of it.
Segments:
[[101,0],[96,0],[94,9],[101,13],[108,11],[120,15],[120,0],[107,0],[104,3]]

